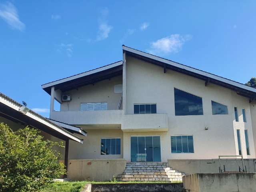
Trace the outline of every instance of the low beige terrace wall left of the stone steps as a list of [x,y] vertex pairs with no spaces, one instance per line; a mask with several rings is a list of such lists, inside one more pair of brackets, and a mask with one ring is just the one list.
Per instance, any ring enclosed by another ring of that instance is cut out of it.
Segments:
[[122,174],[126,166],[124,159],[83,159],[68,160],[68,179],[109,181]]

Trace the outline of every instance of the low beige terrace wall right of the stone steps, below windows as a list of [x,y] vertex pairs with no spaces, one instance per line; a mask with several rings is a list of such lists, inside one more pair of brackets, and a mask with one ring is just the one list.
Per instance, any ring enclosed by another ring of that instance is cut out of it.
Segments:
[[[218,173],[219,160],[205,159],[205,160],[171,160],[168,159],[168,165],[174,170],[185,172],[186,174],[194,173]],[[226,171],[238,171],[238,166],[242,169],[242,160],[240,159],[222,159],[221,167],[226,167]],[[244,166],[247,172],[256,172],[256,159],[244,159]]]

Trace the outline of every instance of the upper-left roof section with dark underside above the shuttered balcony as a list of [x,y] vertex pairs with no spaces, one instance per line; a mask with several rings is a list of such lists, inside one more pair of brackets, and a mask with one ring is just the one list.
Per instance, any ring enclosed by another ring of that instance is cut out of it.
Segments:
[[89,70],[80,74],[66,77],[60,80],[49,82],[42,85],[42,89],[48,94],[51,94],[51,87],[54,86],[55,90],[67,91],[80,86],[93,84],[102,80],[112,78],[114,76],[122,75],[122,61],[114,62],[93,70]]

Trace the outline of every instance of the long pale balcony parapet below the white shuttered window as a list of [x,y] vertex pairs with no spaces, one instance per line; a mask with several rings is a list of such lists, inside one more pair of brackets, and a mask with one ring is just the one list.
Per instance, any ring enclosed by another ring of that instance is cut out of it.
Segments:
[[124,110],[52,111],[50,118],[72,125],[121,124]]

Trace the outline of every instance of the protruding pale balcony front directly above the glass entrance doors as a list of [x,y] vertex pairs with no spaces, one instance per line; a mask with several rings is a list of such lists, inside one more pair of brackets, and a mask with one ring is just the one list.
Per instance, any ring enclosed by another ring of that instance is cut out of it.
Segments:
[[122,131],[168,131],[167,114],[127,114],[122,120]]

